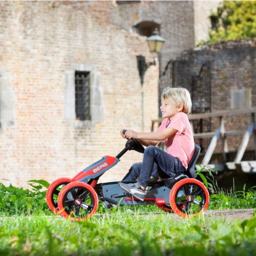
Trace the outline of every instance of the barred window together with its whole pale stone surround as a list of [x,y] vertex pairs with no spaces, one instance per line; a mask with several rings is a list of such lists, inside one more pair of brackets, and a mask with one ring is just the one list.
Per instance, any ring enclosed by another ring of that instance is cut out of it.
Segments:
[[100,73],[91,65],[73,63],[65,71],[63,118],[75,127],[90,127],[104,119]]

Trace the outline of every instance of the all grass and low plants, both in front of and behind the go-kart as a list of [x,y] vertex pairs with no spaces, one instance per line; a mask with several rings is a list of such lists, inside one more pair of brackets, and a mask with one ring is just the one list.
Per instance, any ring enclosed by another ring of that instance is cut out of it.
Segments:
[[[185,219],[152,205],[108,211],[100,202],[93,218],[71,222],[48,209],[47,182],[30,183],[31,190],[0,183],[0,255],[256,255],[256,212],[228,222],[209,214]],[[209,210],[256,208],[255,187],[209,184]]]

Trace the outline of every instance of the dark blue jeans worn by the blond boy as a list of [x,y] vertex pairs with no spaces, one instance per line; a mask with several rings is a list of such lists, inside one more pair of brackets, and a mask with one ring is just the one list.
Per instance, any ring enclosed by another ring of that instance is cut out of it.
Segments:
[[143,162],[133,164],[123,181],[135,181],[140,177],[139,185],[147,187],[150,176],[159,176],[158,167],[169,177],[186,171],[178,157],[171,156],[155,146],[148,146],[144,151]]

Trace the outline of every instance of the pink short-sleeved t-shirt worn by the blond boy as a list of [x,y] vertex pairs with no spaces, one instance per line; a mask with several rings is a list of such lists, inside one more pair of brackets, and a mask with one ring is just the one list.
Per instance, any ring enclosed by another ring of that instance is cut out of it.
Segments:
[[195,150],[194,137],[188,121],[188,116],[185,113],[180,112],[176,114],[171,121],[169,118],[165,118],[157,131],[163,131],[166,127],[172,127],[173,129],[178,130],[164,140],[167,153],[174,157],[179,157],[182,165],[187,169],[188,163],[193,157]]

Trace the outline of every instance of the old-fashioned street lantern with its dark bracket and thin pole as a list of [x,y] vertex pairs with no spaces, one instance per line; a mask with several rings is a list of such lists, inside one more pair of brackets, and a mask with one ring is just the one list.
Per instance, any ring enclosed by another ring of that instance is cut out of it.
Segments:
[[[162,50],[163,44],[165,42],[165,39],[161,36],[159,36],[158,33],[158,29],[156,28],[153,35],[149,36],[147,38],[147,42],[148,42],[148,47],[150,52],[155,52],[155,53],[159,53]],[[156,58],[156,57],[155,57]],[[147,70],[148,67],[150,67],[151,65],[156,65],[156,61],[154,58],[154,62],[149,62],[146,63],[145,61],[145,57],[139,55],[137,56],[137,65],[138,65],[138,70],[139,70],[139,75],[140,75],[140,82],[141,82],[141,86],[142,86],[142,92],[141,92],[141,111],[142,111],[142,131],[144,131],[144,88],[143,88],[143,83],[144,83],[144,75],[145,72]]]

